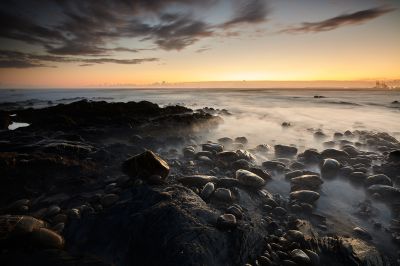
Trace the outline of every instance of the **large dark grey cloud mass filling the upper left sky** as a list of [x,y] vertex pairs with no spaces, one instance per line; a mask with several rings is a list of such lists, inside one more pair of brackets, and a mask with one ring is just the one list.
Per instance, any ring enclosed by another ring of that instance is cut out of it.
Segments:
[[202,38],[222,36],[227,27],[262,22],[268,14],[266,0],[229,0],[233,16],[226,22],[213,25],[196,17],[195,11],[206,11],[221,1],[228,0],[2,0],[0,38],[32,44],[46,51],[42,56],[53,56],[3,58],[2,67],[12,66],[12,62],[20,68],[47,66],[48,62],[142,63],[146,60],[108,57],[155,49],[121,47],[117,45],[121,39],[151,42],[162,50],[181,50]]

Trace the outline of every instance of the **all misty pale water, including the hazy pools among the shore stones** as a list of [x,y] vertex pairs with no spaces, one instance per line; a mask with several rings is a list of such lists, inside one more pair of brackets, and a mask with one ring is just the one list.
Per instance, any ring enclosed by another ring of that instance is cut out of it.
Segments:
[[[321,97],[314,97],[321,96]],[[184,105],[192,109],[212,107],[226,109],[232,115],[222,115],[224,123],[204,141],[220,137],[245,136],[248,148],[258,144],[295,145],[324,149],[314,138],[316,131],[332,140],[334,132],[368,130],[387,132],[400,137],[400,91],[328,91],[328,90],[2,90],[0,102],[20,102],[21,106],[40,108],[77,100],[150,101],[162,106]],[[282,127],[283,122],[290,127]],[[338,148],[336,146],[336,148]],[[259,162],[273,159],[273,153],[259,156]],[[313,171],[319,171],[313,167]],[[266,185],[271,192],[287,197],[290,184],[283,176],[274,176]],[[338,233],[351,235],[355,226],[367,229],[377,246],[396,251],[390,234],[375,230],[373,222],[389,227],[390,209],[383,203],[372,203],[372,217],[357,214],[359,204],[367,199],[365,189],[343,178],[324,180],[316,212],[327,217],[327,224]]]

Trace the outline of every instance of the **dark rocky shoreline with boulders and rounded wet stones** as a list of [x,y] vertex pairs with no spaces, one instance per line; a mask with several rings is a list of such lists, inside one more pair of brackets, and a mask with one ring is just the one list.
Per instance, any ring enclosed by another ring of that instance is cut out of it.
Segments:
[[[150,102],[0,111],[0,264],[399,263],[367,229],[343,233],[318,211],[330,180],[362,187],[359,215],[398,247],[398,140],[317,131],[317,151],[206,139],[225,115]],[[269,188],[279,178],[290,193]],[[390,225],[374,221],[374,202]]]

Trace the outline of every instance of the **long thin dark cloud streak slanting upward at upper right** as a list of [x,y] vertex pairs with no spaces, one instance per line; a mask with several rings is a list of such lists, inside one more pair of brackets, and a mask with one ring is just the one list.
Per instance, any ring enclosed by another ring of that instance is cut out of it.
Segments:
[[330,31],[346,25],[361,24],[368,20],[382,16],[393,10],[395,9],[383,8],[383,7],[371,8],[351,14],[336,16],[319,22],[305,22],[302,23],[300,26],[290,27],[282,30],[281,32],[309,33],[309,32]]

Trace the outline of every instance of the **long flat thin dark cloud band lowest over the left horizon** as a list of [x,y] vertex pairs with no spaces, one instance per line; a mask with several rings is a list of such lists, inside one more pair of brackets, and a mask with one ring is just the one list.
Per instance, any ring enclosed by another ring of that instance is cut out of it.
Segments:
[[55,55],[38,55],[22,53],[17,51],[0,50],[0,68],[31,68],[31,67],[53,67],[49,63],[78,63],[80,66],[93,64],[123,64],[136,65],[145,62],[155,62],[158,58],[134,58],[134,59],[115,59],[115,58],[77,58]]

